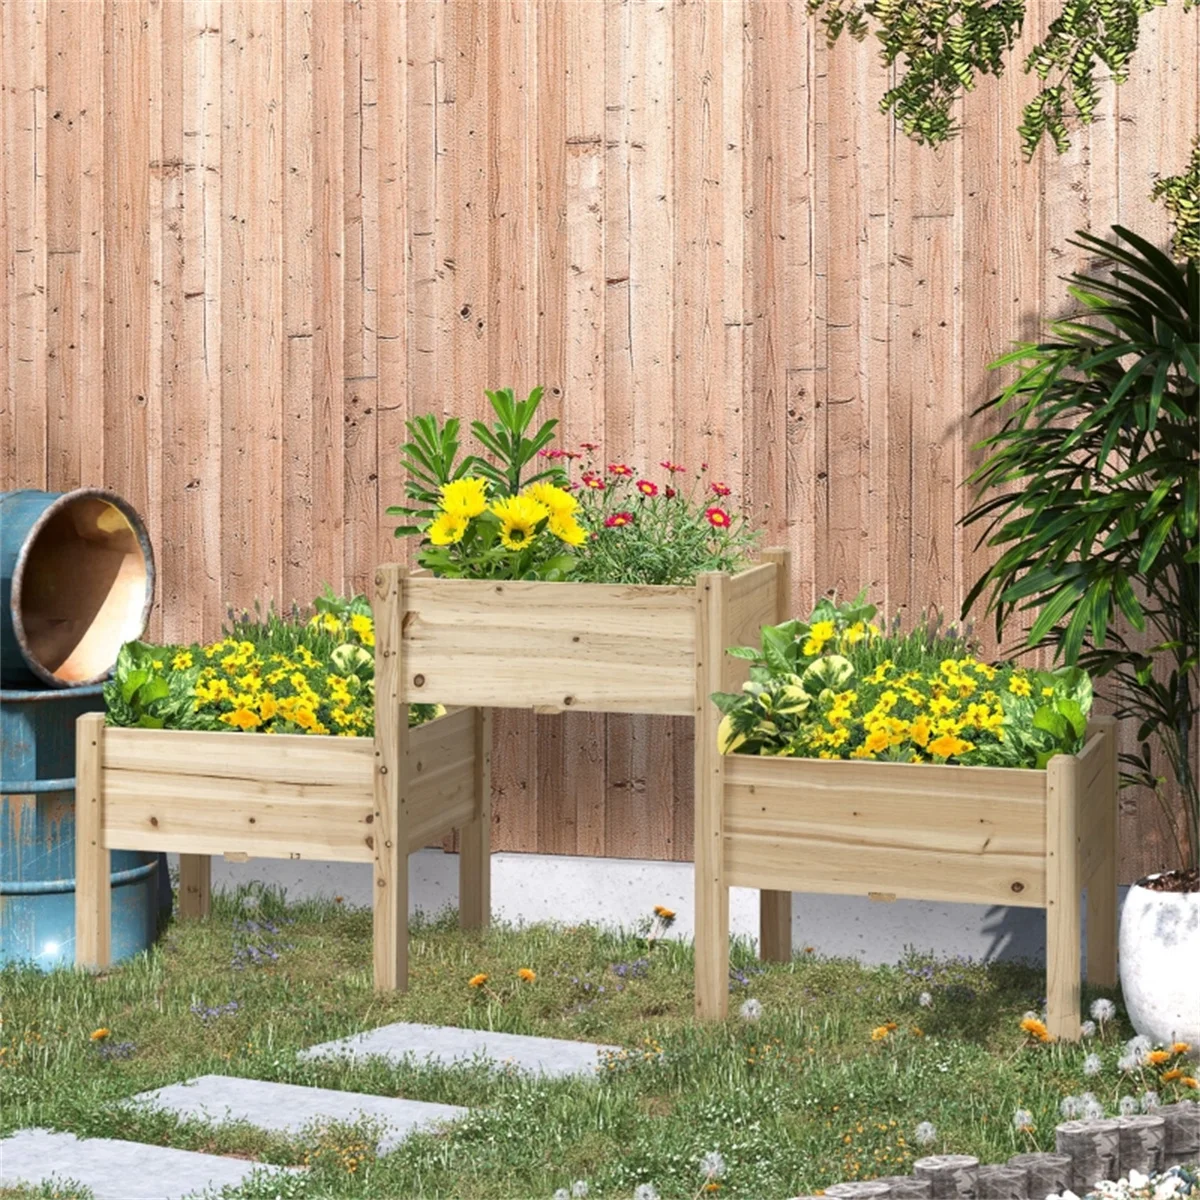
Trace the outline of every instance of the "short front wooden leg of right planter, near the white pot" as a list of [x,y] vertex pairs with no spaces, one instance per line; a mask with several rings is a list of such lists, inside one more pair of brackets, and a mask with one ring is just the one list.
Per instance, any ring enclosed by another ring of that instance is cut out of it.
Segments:
[[1069,755],[1046,763],[1046,1026],[1079,1040],[1079,772]]

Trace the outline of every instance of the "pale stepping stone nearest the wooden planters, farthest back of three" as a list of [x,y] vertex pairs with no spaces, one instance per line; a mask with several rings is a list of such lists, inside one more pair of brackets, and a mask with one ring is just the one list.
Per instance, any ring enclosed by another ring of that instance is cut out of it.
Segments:
[[394,1063],[413,1058],[440,1067],[482,1060],[499,1069],[512,1067],[534,1075],[564,1079],[570,1075],[595,1075],[601,1051],[616,1054],[619,1050],[619,1046],[598,1045],[595,1042],[566,1042],[523,1033],[493,1033],[490,1030],[461,1030],[445,1025],[409,1025],[398,1021],[368,1033],[323,1042],[302,1051],[300,1057],[380,1057]]

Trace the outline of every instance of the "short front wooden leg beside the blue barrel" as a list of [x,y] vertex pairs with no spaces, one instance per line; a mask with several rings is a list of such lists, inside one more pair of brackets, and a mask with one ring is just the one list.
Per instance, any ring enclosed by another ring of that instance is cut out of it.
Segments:
[[104,845],[104,714],[76,721],[76,965],[112,961],[113,893]]

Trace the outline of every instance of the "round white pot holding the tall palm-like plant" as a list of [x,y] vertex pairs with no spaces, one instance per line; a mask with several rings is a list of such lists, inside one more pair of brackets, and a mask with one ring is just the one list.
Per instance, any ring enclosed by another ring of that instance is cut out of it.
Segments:
[[1153,892],[1144,882],[1129,889],[1121,913],[1129,1020],[1156,1043],[1200,1045],[1200,892]]

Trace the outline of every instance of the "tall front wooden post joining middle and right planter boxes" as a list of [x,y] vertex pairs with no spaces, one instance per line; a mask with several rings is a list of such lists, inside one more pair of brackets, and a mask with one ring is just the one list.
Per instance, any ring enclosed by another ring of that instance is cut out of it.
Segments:
[[709,696],[721,688],[725,658],[724,575],[696,580],[696,1016],[720,1020],[730,1008],[730,889],[725,882],[721,809],[725,763],[718,752],[720,713]]

